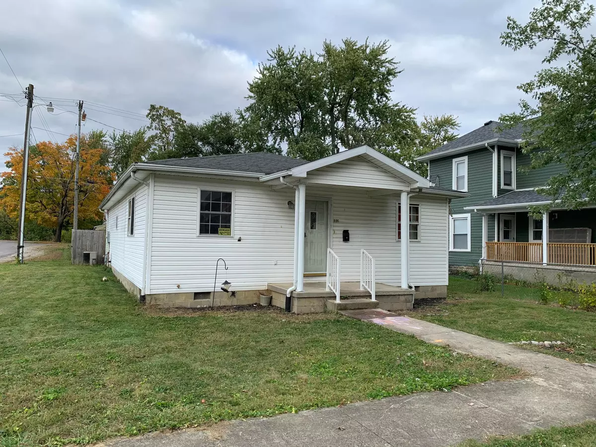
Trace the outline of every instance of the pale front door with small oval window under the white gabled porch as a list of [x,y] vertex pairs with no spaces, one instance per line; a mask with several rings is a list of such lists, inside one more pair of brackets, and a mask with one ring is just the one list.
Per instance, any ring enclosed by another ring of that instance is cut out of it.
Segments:
[[329,203],[306,200],[304,224],[304,272],[325,274],[327,271]]

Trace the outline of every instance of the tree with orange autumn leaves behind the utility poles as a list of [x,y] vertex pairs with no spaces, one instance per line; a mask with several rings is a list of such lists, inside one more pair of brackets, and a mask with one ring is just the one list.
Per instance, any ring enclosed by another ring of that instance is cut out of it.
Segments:
[[[107,165],[105,133],[82,134],[79,158],[79,219],[101,219],[98,209],[114,182]],[[23,150],[11,148],[5,156],[10,169],[0,174],[0,207],[11,218],[18,217]],[[72,221],[75,197],[76,136],[63,144],[42,141],[30,147],[27,181],[26,221],[55,228],[54,241],[60,242],[62,229]]]

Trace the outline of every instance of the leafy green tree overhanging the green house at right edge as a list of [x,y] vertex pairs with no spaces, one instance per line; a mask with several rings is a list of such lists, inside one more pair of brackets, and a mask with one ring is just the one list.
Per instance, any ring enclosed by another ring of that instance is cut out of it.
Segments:
[[542,0],[527,23],[508,17],[501,34],[514,51],[550,46],[542,60],[547,67],[518,87],[530,99],[501,120],[524,123],[531,169],[566,166],[540,191],[570,208],[596,201],[596,39],[588,33],[594,11],[582,0]]

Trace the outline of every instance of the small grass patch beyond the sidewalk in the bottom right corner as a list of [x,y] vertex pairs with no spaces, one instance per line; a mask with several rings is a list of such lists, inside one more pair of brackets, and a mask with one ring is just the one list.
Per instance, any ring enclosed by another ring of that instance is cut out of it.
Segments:
[[532,434],[514,437],[495,437],[487,442],[470,440],[459,447],[594,447],[596,423],[575,427],[539,430]]

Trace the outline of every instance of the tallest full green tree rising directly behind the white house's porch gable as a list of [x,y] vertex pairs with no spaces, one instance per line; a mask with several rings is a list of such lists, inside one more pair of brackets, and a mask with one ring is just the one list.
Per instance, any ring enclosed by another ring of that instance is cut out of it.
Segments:
[[278,46],[249,83],[243,119],[260,122],[272,144],[316,160],[369,144],[400,162],[412,161],[420,135],[415,109],[392,101],[401,73],[386,41],[325,42],[321,54]]

